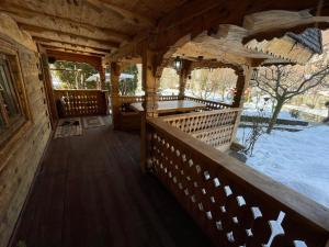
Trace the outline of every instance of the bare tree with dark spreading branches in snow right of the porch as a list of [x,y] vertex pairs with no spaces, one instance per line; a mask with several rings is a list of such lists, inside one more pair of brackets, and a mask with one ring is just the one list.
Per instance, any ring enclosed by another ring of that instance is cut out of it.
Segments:
[[262,67],[256,75],[256,86],[275,101],[266,130],[270,134],[284,103],[327,82],[329,65],[324,59],[318,59],[307,66],[275,65]]

